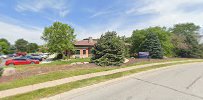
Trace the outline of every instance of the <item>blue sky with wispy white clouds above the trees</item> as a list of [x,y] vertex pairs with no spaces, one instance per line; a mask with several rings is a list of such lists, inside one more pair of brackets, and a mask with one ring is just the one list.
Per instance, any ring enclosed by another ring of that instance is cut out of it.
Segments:
[[55,21],[73,27],[78,40],[186,22],[203,27],[202,5],[203,0],[0,0],[0,38],[43,44],[44,27]]

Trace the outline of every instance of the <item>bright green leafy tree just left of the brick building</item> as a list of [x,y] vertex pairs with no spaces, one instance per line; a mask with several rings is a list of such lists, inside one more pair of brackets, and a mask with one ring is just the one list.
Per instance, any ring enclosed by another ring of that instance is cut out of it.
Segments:
[[47,43],[50,53],[64,55],[65,51],[74,50],[74,40],[76,35],[74,29],[61,22],[54,22],[53,25],[45,27],[42,39]]

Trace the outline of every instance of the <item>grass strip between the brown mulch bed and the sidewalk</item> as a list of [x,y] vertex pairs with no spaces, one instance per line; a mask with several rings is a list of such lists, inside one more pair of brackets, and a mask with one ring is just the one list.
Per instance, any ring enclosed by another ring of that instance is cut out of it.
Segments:
[[[173,61],[173,60],[170,60],[170,61]],[[174,61],[181,61],[181,60],[174,59]],[[159,61],[156,63],[161,63],[161,62],[169,62],[169,61],[163,60],[163,61]],[[145,65],[145,64],[151,64],[151,63],[154,63],[154,62],[138,62],[135,64],[131,64],[128,66],[122,66],[122,67],[76,68],[76,69],[72,69],[72,70],[50,72],[47,74],[30,76],[30,77],[23,78],[23,79],[16,79],[16,80],[13,80],[10,82],[3,82],[0,84],[0,91],[12,89],[12,88],[18,88],[18,87],[27,86],[27,85],[38,84],[38,83],[47,82],[47,81],[53,81],[53,80],[62,79],[62,78],[68,78],[68,77],[77,76],[77,75],[109,71],[109,70],[114,70],[114,69],[119,69],[119,68]]]

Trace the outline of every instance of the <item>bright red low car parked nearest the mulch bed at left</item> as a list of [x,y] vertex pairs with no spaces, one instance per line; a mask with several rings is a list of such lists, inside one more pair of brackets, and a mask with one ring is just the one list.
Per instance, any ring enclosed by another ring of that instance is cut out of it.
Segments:
[[25,59],[25,58],[16,58],[16,59],[7,60],[5,63],[6,66],[26,65],[26,64],[39,64],[39,61],[38,60],[32,60],[32,59]]

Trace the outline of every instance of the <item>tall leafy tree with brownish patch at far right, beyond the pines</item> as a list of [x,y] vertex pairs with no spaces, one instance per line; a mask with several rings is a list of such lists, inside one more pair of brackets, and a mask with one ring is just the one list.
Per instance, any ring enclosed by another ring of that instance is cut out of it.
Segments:
[[[173,44],[175,52],[180,57],[200,57],[201,50],[199,45],[200,26],[194,23],[176,24],[171,29],[174,33]],[[177,37],[179,37],[177,39]],[[180,41],[181,40],[181,41]],[[178,41],[178,42],[176,42]]]

